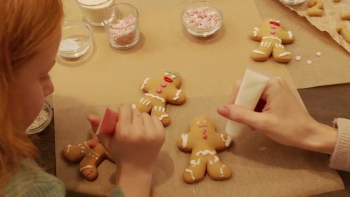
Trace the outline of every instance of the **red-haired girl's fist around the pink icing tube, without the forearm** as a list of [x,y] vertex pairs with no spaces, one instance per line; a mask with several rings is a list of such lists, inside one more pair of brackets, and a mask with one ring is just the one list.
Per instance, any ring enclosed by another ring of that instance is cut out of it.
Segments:
[[[119,120],[113,135],[101,134],[102,145],[117,164],[151,167],[165,139],[164,127],[156,116],[140,113],[129,104],[118,108]],[[94,130],[100,123],[89,116]]]

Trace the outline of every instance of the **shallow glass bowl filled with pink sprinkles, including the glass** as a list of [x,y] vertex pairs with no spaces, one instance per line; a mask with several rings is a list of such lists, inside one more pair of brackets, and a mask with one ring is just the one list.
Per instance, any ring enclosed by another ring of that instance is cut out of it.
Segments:
[[207,37],[220,29],[223,23],[221,10],[208,1],[189,3],[181,12],[184,28],[192,35]]

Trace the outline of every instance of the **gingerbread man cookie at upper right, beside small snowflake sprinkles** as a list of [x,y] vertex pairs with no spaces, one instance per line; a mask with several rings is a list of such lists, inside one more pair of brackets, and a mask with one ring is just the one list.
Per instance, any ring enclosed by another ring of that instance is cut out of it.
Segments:
[[294,35],[291,31],[283,30],[279,20],[264,20],[261,27],[255,27],[249,37],[260,41],[260,46],[252,51],[253,60],[266,61],[271,53],[277,62],[289,62],[292,59],[291,53],[286,51],[282,44],[292,43]]

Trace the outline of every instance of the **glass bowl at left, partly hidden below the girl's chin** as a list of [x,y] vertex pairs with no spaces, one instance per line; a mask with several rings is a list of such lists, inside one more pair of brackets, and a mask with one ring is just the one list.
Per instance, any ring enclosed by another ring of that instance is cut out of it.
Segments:
[[51,122],[53,111],[50,103],[44,101],[44,105],[34,122],[27,128],[26,134],[36,134],[42,132]]

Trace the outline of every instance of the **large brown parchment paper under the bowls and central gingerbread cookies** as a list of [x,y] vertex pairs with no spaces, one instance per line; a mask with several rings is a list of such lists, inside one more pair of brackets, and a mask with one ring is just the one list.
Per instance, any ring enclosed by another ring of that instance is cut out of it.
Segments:
[[[229,100],[233,84],[243,77],[247,65],[285,78],[300,99],[284,64],[254,62],[249,57],[258,43],[250,40],[248,33],[261,22],[254,2],[214,2],[222,7],[224,25],[209,38],[194,38],[183,30],[180,12],[185,1],[135,1],[129,3],[139,8],[142,34],[134,48],[111,48],[103,28],[94,27],[89,56],[75,61],[57,58],[52,72],[56,168],[57,177],[69,190],[109,193],[115,170],[110,162],[103,162],[99,178],[88,182],[80,176],[77,165],[63,160],[60,150],[89,139],[86,116],[102,115],[106,106],[116,110],[119,103],[139,101],[144,78],[158,77],[165,70],[180,73],[187,102],[167,107],[172,122],[166,128],[166,142],[157,160],[153,196],[305,196],[343,188],[336,171],[327,168],[326,156],[277,145],[255,132],[246,133],[234,147],[220,154],[233,169],[231,180],[214,182],[206,178],[195,185],[182,181],[189,155],[177,149],[176,139],[187,132],[189,120],[200,114],[213,117],[223,132],[226,120],[216,115],[216,107]],[[75,1],[64,3],[67,19],[81,19]],[[249,17],[243,18],[243,13]],[[262,147],[266,150],[260,151]]]

